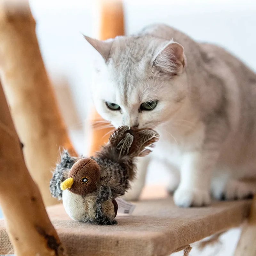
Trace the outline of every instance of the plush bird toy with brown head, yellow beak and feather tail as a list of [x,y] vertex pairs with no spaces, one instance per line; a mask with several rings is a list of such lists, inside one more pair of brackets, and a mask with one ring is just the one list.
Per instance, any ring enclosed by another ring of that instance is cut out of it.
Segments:
[[116,224],[115,198],[130,188],[134,157],[148,155],[158,138],[152,129],[121,126],[95,157],[72,157],[64,151],[50,181],[52,196],[63,200],[73,220]]

